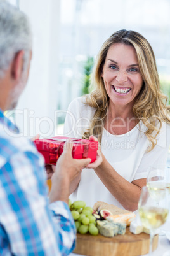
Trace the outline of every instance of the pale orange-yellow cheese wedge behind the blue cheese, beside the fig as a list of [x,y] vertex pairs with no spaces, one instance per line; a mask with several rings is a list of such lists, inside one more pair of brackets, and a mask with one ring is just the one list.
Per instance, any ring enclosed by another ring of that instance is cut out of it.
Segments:
[[133,212],[130,212],[119,215],[110,215],[106,219],[109,222],[125,223],[127,226],[129,226],[135,217],[136,215]]

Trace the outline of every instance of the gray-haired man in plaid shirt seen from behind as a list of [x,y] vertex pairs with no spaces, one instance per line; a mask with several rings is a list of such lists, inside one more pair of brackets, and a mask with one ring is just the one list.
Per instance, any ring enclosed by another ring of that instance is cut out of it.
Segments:
[[31,39],[25,15],[0,0],[0,255],[68,255],[75,246],[70,183],[91,159],[73,159],[72,142],[65,143],[48,199],[42,157],[32,141],[6,132],[18,129],[3,115],[27,82]]

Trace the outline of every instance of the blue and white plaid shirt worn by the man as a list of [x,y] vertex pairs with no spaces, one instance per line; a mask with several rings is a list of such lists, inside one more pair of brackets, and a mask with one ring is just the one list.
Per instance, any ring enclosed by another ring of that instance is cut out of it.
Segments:
[[44,160],[18,132],[0,110],[0,255],[69,255],[75,247],[69,207],[49,204]]

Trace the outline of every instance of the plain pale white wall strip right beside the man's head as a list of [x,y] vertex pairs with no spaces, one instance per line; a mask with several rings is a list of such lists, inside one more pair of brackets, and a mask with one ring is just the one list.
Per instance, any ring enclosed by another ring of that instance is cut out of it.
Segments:
[[33,55],[29,81],[15,111],[16,125],[24,136],[49,137],[55,132],[60,0],[21,0],[20,10],[32,25]]

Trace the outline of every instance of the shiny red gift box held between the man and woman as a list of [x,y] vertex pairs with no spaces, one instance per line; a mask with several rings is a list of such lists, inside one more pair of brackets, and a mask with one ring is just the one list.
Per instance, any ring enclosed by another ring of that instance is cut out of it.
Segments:
[[[65,141],[69,137],[52,137],[48,139],[36,139],[34,141],[37,150],[43,155],[46,164],[56,164],[58,157],[63,152]],[[96,160],[98,141],[89,141],[88,139],[75,139],[73,141],[72,157],[74,159],[91,158],[91,162]]]

